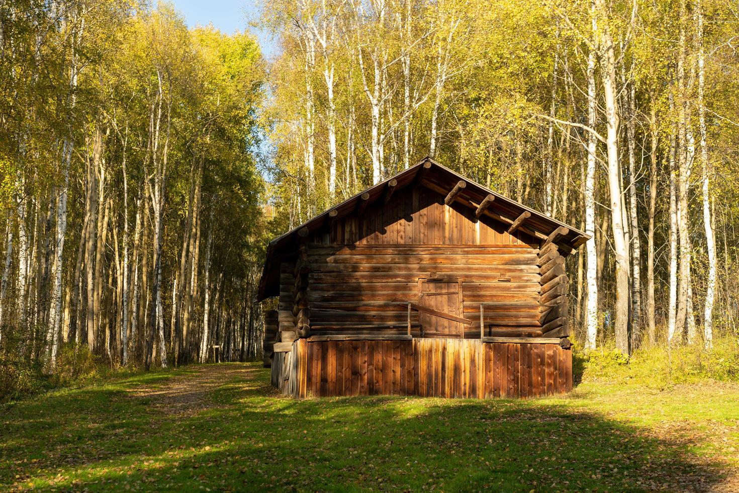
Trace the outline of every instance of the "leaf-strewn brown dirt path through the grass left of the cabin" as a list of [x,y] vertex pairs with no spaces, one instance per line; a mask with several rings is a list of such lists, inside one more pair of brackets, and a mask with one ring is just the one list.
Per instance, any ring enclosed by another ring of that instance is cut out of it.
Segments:
[[257,371],[239,363],[185,367],[163,384],[132,390],[132,397],[149,398],[151,406],[168,414],[193,415],[202,409],[223,407],[214,402],[213,392],[229,382],[253,382]]

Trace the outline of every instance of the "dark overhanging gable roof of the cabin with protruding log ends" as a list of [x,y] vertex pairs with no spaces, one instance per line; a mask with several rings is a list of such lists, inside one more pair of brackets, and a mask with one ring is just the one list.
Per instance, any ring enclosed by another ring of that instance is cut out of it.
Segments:
[[[587,234],[579,229],[566,225],[564,222],[555,220],[522,203],[498,194],[480,185],[480,183],[475,183],[446,166],[440,165],[431,157],[425,157],[415,166],[404,169],[400,173],[395,174],[395,176],[389,177],[387,180],[361,191],[353,197],[344,200],[344,202],[321,212],[321,214],[304,222],[297,228],[293,228],[291,231],[282,234],[282,236],[273,239],[267,247],[267,257],[262,271],[262,279],[259,281],[257,300],[262,301],[269,296],[277,296],[279,294],[279,263],[296,256],[296,245],[299,241],[299,234],[305,237],[307,234],[323,228],[327,222],[338,220],[352,214],[357,210],[359,203],[365,202],[370,204],[376,200],[381,200],[389,188],[395,191],[418,183],[440,194],[447,195],[460,182],[464,182],[465,185],[453,197],[455,202],[462,203],[471,208],[477,208],[488,195],[492,195],[494,200],[489,203],[484,214],[508,225],[514,224],[522,214],[528,212],[529,215],[525,218],[525,223],[519,225],[517,228],[518,231],[522,231],[534,237],[534,239],[543,241],[559,230],[560,234],[556,240],[556,244],[559,245],[562,249],[562,254],[565,256],[573,253],[575,248],[590,239]],[[563,231],[559,229],[561,227],[567,228],[566,234],[561,234]]]

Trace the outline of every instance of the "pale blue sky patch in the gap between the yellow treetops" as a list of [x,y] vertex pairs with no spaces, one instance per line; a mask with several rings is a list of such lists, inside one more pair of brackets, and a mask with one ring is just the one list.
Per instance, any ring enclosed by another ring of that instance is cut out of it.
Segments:
[[255,34],[262,46],[262,53],[270,58],[274,45],[269,35],[249,26],[259,18],[256,0],[170,0],[183,16],[189,27],[205,26],[211,22],[225,33],[248,30]]

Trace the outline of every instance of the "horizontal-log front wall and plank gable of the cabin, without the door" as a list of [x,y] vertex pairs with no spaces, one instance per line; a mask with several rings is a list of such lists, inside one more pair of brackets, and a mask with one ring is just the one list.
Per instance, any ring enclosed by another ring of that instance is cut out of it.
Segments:
[[[302,307],[295,265],[282,265],[280,331],[300,332],[296,310],[302,309],[311,334],[408,333],[407,307],[395,302],[432,306],[419,296],[432,291],[421,283],[441,281],[461,282],[459,306],[449,309],[471,321],[444,322],[444,330],[480,338],[485,302],[486,336],[539,336],[539,242],[507,227],[477,219],[474,208],[460,203],[445,205],[442,194],[424,186],[327,222],[301,247],[309,272]],[[420,329],[413,310],[412,335],[420,336]]]

